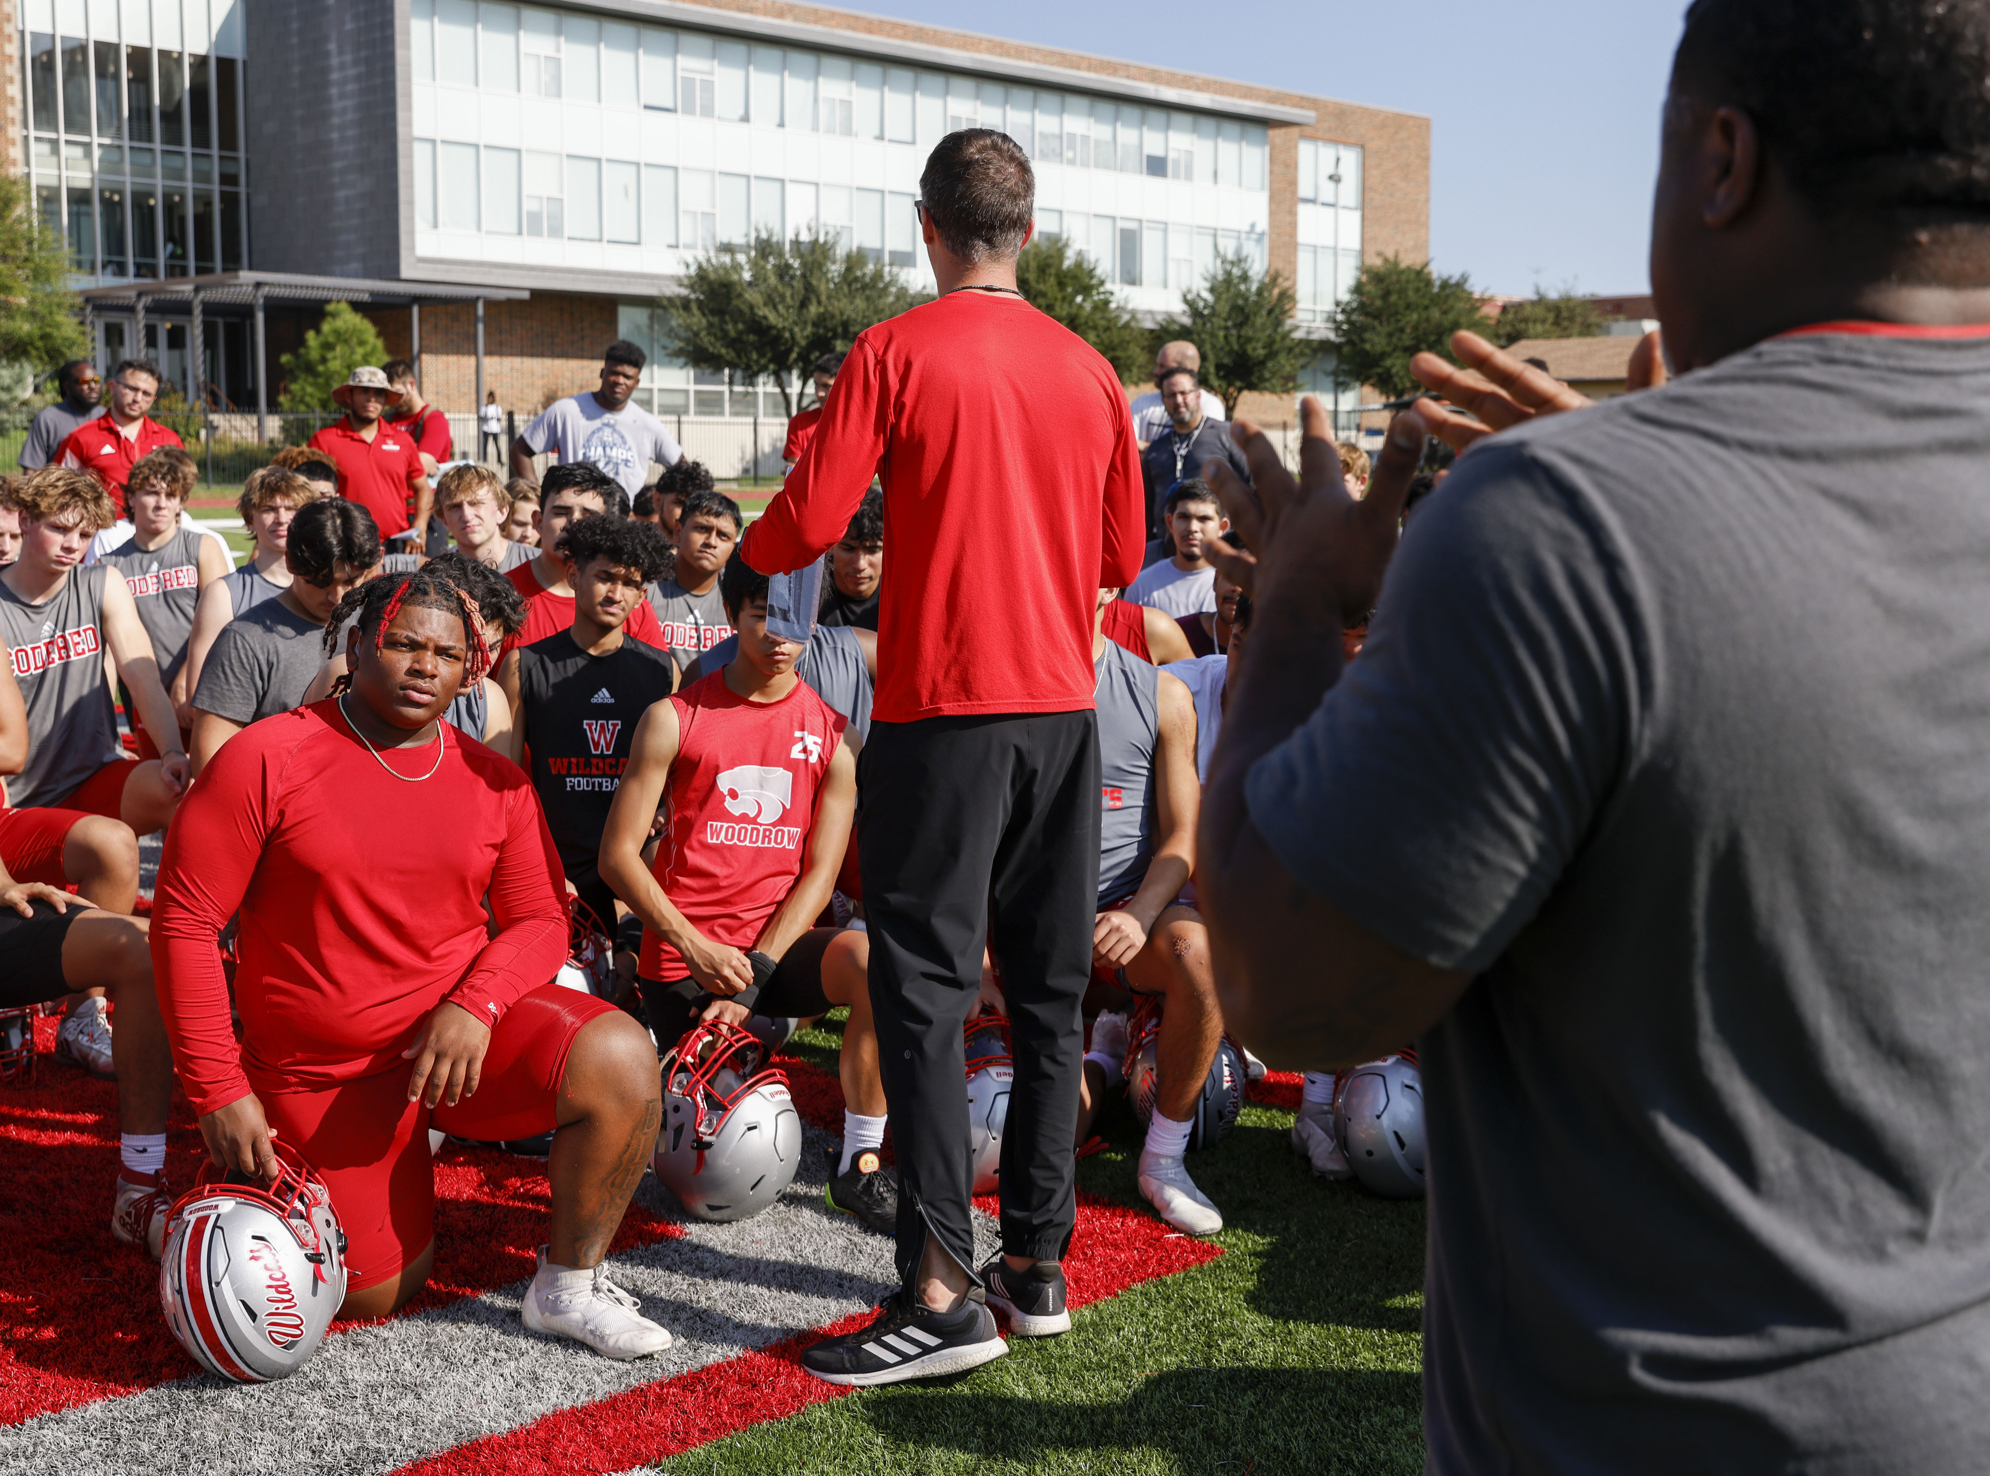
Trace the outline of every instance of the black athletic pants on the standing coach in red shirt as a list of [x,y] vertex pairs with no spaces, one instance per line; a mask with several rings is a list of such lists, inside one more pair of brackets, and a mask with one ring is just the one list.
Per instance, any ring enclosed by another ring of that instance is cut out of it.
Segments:
[[858,760],[858,865],[878,1060],[897,1152],[897,1271],[925,1231],[973,1275],[961,1026],[993,945],[1015,1086],[1001,1142],[1003,1251],[1061,1259],[1098,899],[1098,736],[1085,712],[874,722]]

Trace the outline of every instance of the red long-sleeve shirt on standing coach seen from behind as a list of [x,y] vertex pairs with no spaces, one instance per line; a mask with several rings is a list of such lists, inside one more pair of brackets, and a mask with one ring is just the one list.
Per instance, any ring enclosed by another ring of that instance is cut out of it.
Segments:
[[808,450],[738,557],[820,559],[884,479],[880,722],[1093,706],[1093,607],[1140,573],[1146,505],[1118,376],[1007,292],[858,334]]

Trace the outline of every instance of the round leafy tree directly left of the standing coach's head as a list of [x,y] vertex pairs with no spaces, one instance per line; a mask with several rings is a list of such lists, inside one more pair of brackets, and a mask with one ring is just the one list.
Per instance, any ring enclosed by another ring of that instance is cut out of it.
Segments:
[[794,414],[808,368],[850,348],[874,322],[917,298],[894,267],[832,237],[754,235],[744,251],[691,263],[683,290],[657,300],[669,350],[702,370],[768,374]]

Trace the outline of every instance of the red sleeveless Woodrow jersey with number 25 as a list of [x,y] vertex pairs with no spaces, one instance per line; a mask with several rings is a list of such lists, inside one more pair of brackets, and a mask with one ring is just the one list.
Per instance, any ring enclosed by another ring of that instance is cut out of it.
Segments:
[[[657,885],[704,937],[750,949],[802,875],[844,718],[808,682],[778,702],[748,702],[722,670],[687,686],[671,706],[679,746]],[[649,929],[639,969],[665,983],[689,973],[683,955]]]

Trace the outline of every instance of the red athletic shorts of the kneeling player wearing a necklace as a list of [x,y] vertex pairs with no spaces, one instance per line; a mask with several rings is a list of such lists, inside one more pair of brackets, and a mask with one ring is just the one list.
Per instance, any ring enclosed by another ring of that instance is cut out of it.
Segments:
[[436,1237],[428,1130],[480,1142],[551,1132],[573,1036],[597,1015],[613,1013],[605,999],[541,985],[498,1022],[478,1094],[456,1106],[438,1102],[434,1110],[408,1100],[414,1068],[404,1064],[306,1090],[251,1074],[269,1126],[318,1170],[332,1194],[346,1231],[348,1291],[392,1279]]

